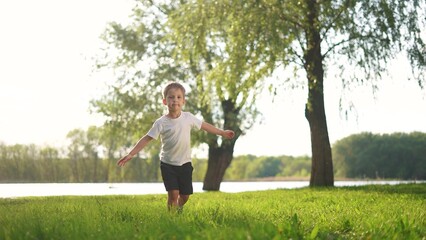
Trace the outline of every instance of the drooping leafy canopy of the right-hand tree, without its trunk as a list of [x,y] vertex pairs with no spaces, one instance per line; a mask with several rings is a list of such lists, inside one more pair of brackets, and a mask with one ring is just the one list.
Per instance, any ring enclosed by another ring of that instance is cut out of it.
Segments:
[[[182,48],[186,52],[197,49],[199,51],[195,54],[200,55],[206,45],[207,48],[219,49],[217,52],[226,51],[225,65],[230,72],[257,72],[257,78],[267,76],[278,66],[295,68],[295,73],[305,70],[312,74],[309,66],[314,63],[306,57],[309,49],[319,44],[309,39],[308,33],[314,29],[319,33],[316,41],[321,43],[321,52],[317,52],[320,56],[315,57],[321,59],[320,64],[324,64],[325,70],[327,64],[340,68],[344,85],[353,81],[374,85],[371,82],[381,78],[387,71],[389,60],[401,51],[407,53],[419,85],[424,85],[424,0],[310,3],[255,0],[189,2],[179,9],[179,16],[198,23],[186,25],[186,28],[197,29],[192,32],[194,39],[209,36],[211,40],[194,41]],[[226,43],[226,49],[223,43]],[[249,67],[233,68],[235,59],[239,59],[240,64],[246,62]],[[348,62],[351,69],[348,69]],[[214,71],[222,73],[223,68],[217,67]],[[288,80],[294,82],[296,79],[290,77]],[[313,86],[315,82],[310,81],[309,84]]]

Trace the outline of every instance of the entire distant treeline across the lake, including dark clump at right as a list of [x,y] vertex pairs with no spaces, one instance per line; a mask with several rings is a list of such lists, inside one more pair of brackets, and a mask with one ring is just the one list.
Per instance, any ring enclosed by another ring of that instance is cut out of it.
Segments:
[[[0,182],[152,182],[161,181],[158,157],[136,157],[126,167],[100,157],[101,146],[68,150],[36,145],[0,144]],[[335,177],[426,179],[426,134],[361,133],[333,145]],[[205,159],[194,159],[194,181],[202,181]],[[224,180],[308,177],[309,156],[237,156]]]

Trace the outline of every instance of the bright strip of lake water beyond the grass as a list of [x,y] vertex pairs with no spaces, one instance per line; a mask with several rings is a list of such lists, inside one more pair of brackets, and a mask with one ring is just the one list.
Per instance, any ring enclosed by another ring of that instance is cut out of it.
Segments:
[[[335,181],[339,186],[367,184],[421,183],[426,181]],[[194,182],[194,192],[203,192],[202,182]],[[220,191],[228,193],[294,189],[309,186],[309,181],[222,182]],[[163,183],[7,183],[0,184],[0,198],[27,196],[96,196],[165,194]]]

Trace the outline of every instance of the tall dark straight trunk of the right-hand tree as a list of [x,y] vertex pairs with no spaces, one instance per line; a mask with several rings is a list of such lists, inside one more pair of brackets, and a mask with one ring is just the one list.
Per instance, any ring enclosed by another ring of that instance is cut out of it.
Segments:
[[321,54],[317,1],[307,0],[305,71],[308,78],[308,102],[305,116],[311,130],[312,169],[310,186],[334,186],[333,162],[324,106],[324,68]]

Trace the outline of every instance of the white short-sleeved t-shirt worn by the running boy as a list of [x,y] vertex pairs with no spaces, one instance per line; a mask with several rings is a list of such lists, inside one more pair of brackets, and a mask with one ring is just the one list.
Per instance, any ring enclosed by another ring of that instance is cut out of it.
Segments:
[[162,116],[157,119],[147,135],[161,138],[160,160],[170,165],[182,166],[191,162],[191,129],[201,129],[202,121],[192,113],[182,112],[178,118]]

